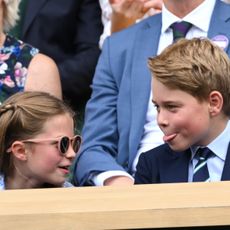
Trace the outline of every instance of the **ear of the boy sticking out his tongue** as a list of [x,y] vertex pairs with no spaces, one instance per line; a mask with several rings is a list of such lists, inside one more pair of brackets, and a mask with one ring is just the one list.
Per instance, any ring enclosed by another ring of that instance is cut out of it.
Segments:
[[218,115],[223,108],[223,97],[219,91],[212,91],[209,94],[209,112],[211,116]]

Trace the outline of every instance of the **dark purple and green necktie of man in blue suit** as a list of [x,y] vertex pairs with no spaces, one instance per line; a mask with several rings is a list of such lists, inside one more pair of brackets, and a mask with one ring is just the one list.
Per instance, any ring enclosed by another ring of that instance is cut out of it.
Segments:
[[192,27],[192,24],[181,21],[173,23],[170,27],[173,30],[173,42],[176,42],[180,38],[185,38],[187,32]]

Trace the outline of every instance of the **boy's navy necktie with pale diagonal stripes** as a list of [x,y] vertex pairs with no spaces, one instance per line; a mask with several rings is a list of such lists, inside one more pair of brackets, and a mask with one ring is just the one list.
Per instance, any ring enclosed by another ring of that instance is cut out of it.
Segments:
[[193,182],[210,181],[207,160],[212,154],[212,151],[207,147],[197,150],[195,157],[198,159],[198,162],[193,171]]

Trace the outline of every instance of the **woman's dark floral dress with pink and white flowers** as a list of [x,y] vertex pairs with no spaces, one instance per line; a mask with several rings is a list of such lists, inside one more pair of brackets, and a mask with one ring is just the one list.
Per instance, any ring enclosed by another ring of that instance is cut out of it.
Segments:
[[24,90],[28,66],[38,52],[38,49],[6,35],[0,48],[0,104]]

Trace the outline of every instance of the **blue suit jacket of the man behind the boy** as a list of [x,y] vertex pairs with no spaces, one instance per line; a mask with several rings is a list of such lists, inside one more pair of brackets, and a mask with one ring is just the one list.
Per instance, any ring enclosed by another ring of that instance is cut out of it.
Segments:
[[[230,40],[229,12],[230,5],[217,0],[209,38],[222,34]],[[74,169],[76,184],[108,170],[131,173],[150,97],[147,59],[157,53],[160,32],[158,14],[105,41],[87,104],[83,145]],[[230,56],[230,46],[226,52]]]

